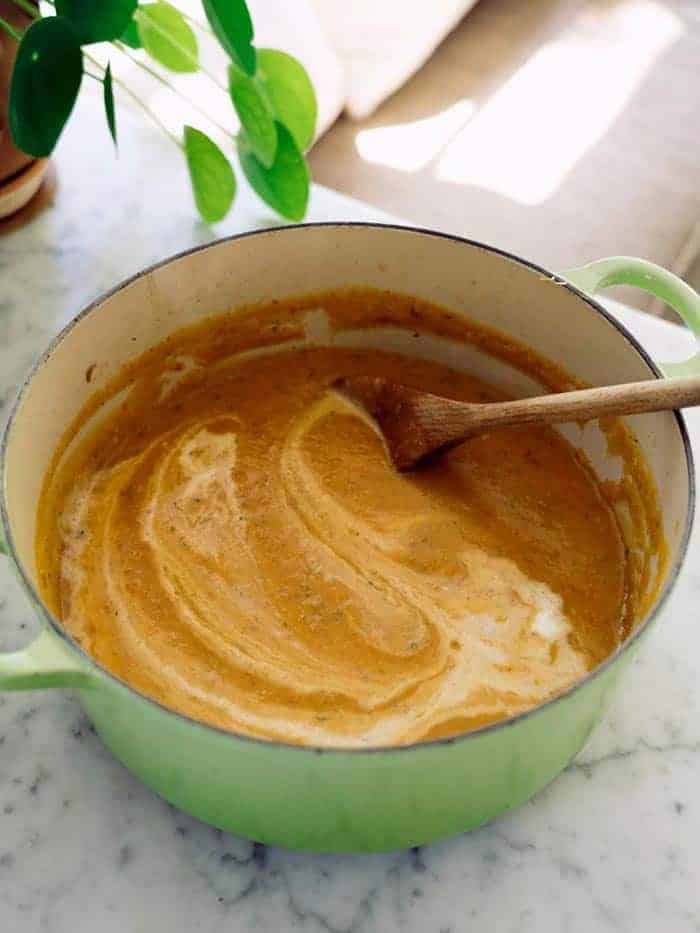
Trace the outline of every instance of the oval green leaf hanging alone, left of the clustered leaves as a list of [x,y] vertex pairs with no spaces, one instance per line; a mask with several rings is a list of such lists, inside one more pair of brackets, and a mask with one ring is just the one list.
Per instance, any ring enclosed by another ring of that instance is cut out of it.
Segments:
[[197,209],[214,224],[226,216],[236,194],[231,164],[216,143],[193,126],[185,126],[185,156]]

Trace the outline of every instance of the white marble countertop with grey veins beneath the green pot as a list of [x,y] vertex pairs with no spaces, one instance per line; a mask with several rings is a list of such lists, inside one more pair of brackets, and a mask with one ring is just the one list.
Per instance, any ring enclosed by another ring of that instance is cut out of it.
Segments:
[[[115,159],[96,102],[81,105],[56,159],[55,204],[0,227],[0,421],[30,362],[84,304],[214,236],[194,219],[178,152],[120,116]],[[309,219],[382,218],[316,189]],[[275,222],[243,189],[216,234]],[[689,354],[680,328],[620,314],[657,359]],[[698,444],[700,412],[688,423]],[[699,568],[696,532],[664,618],[572,767],[491,826],[419,850],[314,856],[223,834],[132,778],[70,693],[0,696],[0,929],[700,930]],[[0,561],[0,650],[35,627]]]

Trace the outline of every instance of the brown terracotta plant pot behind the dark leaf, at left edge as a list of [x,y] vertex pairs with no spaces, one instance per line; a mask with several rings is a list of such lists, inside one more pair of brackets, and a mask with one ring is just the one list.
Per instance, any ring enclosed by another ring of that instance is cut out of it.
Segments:
[[[0,16],[17,29],[26,29],[31,18],[9,0],[0,0]],[[8,126],[8,95],[17,43],[0,30],[0,217],[19,210],[36,194],[47,167],[46,159],[20,152]]]

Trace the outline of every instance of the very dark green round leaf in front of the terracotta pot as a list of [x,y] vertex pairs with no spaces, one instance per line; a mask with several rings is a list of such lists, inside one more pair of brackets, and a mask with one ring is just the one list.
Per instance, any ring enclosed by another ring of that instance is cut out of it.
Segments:
[[27,29],[10,85],[10,132],[15,145],[46,156],[70,116],[83,77],[80,40],[68,20],[50,16]]

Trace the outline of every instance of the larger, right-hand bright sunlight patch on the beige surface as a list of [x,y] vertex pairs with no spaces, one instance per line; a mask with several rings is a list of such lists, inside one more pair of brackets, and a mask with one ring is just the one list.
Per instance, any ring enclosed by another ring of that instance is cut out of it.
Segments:
[[618,119],[684,32],[655,0],[582,14],[542,46],[447,146],[439,181],[541,204]]

